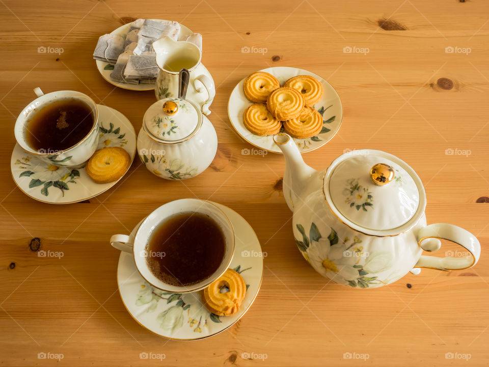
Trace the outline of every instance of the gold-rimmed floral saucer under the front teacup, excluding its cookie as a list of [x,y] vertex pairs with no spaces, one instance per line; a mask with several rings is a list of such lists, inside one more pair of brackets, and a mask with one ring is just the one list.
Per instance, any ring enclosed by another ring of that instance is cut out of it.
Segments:
[[[230,268],[246,282],[246,296],[239,311],[231,316],[216,316],[202,304],[200,292],[171,293],[152,287],[139,274],[132,254],[121,252],[117,284],[122,302],[132,318],[153,333],[176,340],[203,339],[226,330],[250,308],[263,278],[263,255],[260,242],[251,225],[233,209],[217,205],[233,224],[236,247]],[[132,230],[134,238],[141,221]]]

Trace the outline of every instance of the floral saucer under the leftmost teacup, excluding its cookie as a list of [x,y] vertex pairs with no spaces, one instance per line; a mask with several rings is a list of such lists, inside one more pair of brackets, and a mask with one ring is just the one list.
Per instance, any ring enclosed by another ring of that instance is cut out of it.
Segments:
[[[98,104],[97,108],[100,133],[97,149],[106,146],[122,147],[127,150],[132,162],[136,153],[136,134],[131,122],[110,107]],[[16,185],[24,194],[50,204],[87,200],[110,189],[119,181],[95,183],[85,172],[85,167],[50,165],[25,152],[19,144],[15,144],[10,168]]]

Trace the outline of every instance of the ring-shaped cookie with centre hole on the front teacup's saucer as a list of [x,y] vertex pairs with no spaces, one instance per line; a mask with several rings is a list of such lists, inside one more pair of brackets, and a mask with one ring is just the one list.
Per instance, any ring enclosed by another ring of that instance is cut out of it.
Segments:
[[[221,289],[226,286],[229,292],[221,293]],[[239,311],[239,306],[246,295],[246,283],[243,277],[232,269],[214,281],[202,293],[202,303],[205,308],[218,316],[231,316]]]

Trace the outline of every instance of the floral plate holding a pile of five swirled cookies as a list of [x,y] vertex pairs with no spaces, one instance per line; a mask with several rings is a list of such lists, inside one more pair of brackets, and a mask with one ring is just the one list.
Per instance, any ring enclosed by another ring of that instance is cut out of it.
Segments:
[[280,66],[241,80],[229,97],[228,116],[236,132],[258,148],[282,153],[273,137],[287,133],[303,153],[335,136],[343,108],[338,93],[322,77]]

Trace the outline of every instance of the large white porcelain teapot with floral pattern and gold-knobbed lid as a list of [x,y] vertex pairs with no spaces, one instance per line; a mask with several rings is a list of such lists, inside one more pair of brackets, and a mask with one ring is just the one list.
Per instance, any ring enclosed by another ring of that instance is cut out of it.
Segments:
[[[416,172],[396,156],[371,149],[339,156],[327,169],[306,165],[287,134],[274,141],[285,155],[284,197],[302,255],[321,275],[351,287],[392,283],[419,268],[467,269],[480,244],[467,230],[426,225],[426,194]],[[463,247],[461,257],[422,255],[439,239]]]

